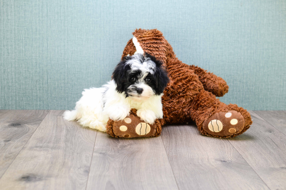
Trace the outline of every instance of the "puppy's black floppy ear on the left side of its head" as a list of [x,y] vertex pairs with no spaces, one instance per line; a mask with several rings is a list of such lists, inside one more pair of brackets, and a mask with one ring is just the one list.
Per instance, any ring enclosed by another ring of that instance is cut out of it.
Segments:
[[130,56],[123,57],[123,59],[116,65],[112,73],[112,79],[114,80],[117,86],[116,90],[120,93],[124,91],[124,82],[126,81],[125,69],[127,69],[126,67],[129,66],[126,65],[126,61],[130,59],[131,59]]

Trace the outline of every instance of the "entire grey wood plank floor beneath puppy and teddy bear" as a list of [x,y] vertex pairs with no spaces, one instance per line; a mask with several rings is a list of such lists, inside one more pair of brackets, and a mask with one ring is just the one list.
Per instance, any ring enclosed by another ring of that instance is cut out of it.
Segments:
[[63,111],[0,110],[0,189],[286,189],[286,111],[251,111],[231,139],[194,124],[112,138]]

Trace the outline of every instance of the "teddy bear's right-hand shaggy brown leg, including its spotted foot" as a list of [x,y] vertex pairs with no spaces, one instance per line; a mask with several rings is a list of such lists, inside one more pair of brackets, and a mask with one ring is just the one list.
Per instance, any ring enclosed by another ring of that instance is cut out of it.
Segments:
[[219,138],[242,134],[252,124],[250,113],[245,109],[235,104],[226,105],[205,90],[193,100],[191,118],[202,134]]

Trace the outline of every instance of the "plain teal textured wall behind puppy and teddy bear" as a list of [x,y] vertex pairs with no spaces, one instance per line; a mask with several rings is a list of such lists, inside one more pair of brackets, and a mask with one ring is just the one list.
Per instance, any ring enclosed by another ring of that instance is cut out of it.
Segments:
[[135,28],[224,78],[220,98],[286,109],[286,1],[0,1],[0,109],[72,109],[110,79]]

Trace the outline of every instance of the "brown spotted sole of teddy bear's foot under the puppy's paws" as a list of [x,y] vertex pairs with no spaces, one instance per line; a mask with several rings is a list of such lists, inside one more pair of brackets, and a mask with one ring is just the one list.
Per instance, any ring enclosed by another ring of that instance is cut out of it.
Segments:
[[156,124],[153,125],[144,122],[139,117],[130,114],[130,116],[120,121],[114,121],[114,135],[121,138],[148,137],[156,133]]

